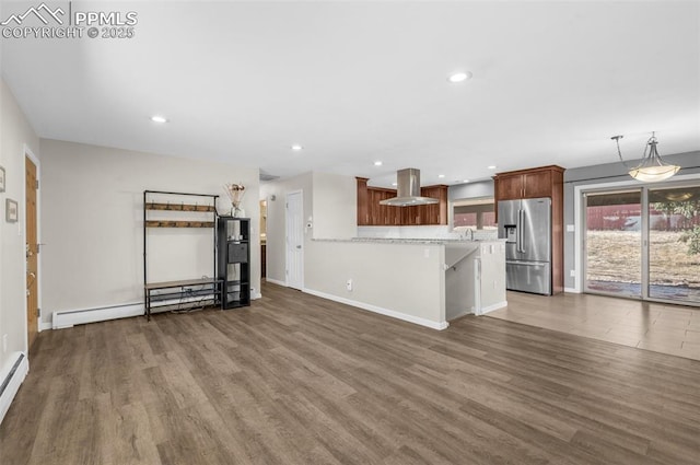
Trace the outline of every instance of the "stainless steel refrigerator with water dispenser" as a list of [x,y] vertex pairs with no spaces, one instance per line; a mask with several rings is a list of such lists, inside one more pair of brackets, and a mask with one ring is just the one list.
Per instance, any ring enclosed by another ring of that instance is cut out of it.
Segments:
[[505,240],[505,287],[551,294],[551,199],[499,201],[499,239]]

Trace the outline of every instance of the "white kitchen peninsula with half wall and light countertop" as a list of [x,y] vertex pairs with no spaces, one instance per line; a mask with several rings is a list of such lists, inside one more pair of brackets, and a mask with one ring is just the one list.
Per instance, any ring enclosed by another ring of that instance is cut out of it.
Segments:
[[502,241],[314,239],[304,291],[434,329],[505,306]]

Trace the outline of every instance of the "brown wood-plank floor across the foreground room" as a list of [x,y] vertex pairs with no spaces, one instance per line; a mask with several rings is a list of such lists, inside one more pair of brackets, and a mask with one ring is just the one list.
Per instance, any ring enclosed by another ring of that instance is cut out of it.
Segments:
[[700,462],[698,361],[262,293],[245,310],[42,333],[0,464]]

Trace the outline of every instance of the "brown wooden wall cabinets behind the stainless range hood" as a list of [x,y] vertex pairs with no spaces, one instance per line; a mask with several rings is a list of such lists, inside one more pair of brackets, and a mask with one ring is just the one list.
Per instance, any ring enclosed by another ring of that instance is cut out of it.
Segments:
[[408,226],[447,224],[447,186],[425,186],[421,196],[440,200],[435,205],[390,207],[380,201],[396,197],[395,189],[368,186],[366,177],[357,177],[358,225],[360,226]]

